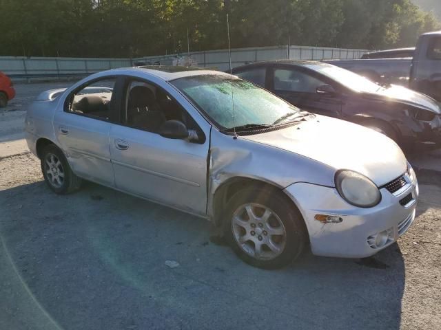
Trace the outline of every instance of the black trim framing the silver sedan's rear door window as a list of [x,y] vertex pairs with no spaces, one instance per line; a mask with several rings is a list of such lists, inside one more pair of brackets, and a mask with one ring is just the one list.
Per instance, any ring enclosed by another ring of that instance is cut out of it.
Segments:
[[[109,119],[99,117],[96,115],[90,115],[88,113],[80,113],[80,112],[75,112],[75,111],[69,110],[70,104],[72,103],[72,99],[79,91],[81,91],[85,87],[88,87],[96,82],[101,81],[101,80],[112,80],[112,79],[115,80],[115,85],[114,85],[113,91],[112,91],[112,98],[110,99],[110,102],[109,102],[109,109],[110,109]],[[91,118],[94,120],[101,120],[103,122],[114,123],[116,121],[116,107],[117,107],[117,103],[118,103],[116,100],[118,98],[120,98],[120,93],[119,93],[120,89],[121,89],[121,76],[117,76],[117,75],[101,76],[99,78],[94,78],[94,79],[88,80],[85,83],[79,85],[79,87],[76,87],[76,89],[71,91],[70,94],[65,98],[64,104],[63,104],[63,112],[70,113],[72,115],[80,115],[81,117]]]

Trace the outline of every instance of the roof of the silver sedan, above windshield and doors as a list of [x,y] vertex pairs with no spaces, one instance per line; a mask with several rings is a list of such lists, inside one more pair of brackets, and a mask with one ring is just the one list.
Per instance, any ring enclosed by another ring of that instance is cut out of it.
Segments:
[[189,76],[203,76],[207,74],[218,74],[221,76],[227,76],[227,74],[216,71],[216,70],[207,70],[199,67],[180,67],[180,66],[167,66],[167,65],[146,65],[142,67],[123,67],[120,69],[112,69],[111,72],[120,72],[123,74],[130,74],[145,72],[147,74],[152,74],[158,78],[161,78],[166,81],[189,77]]

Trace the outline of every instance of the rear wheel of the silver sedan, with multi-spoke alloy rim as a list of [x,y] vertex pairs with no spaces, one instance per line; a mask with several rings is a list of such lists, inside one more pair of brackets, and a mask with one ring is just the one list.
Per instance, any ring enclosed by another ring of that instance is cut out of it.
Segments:
[[54,144],[45,146],[41,153],[41,171],[49,188],[65,195],[81,186],[81,178],[71,170],[63,151]]

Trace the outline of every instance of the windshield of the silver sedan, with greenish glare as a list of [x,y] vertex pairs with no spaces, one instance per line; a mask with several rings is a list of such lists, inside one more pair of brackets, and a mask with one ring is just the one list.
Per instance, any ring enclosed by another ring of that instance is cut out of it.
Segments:
[[172,83],[220,129],[253,124],[273,125],[280,118],[299,111],[265,89],[229,76],[191,76]]

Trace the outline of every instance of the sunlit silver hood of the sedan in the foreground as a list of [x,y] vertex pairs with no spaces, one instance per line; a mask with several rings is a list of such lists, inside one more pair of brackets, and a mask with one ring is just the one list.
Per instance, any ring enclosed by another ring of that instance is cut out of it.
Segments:
[[[305,122],[244,139],[309,157],[335,170],[355,170],[377,186],[402,175],[407,159],[389,137],[371,129],[316,115]],[[296,170],[296,164],[291,164]]]

